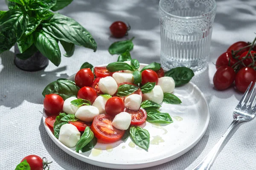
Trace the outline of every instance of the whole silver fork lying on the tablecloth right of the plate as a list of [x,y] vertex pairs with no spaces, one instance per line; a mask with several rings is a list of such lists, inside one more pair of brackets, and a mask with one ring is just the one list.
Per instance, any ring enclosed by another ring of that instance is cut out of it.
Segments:
[[[193,169],[193,170],[209,170],[220,153],[221,148],[224,146],[224,141],[227,139],[227,136],[230,135],[231,131],[238,125],[240,122],[247,122],[252,120],[256,114],[256,84],[253,86],[252,90],[250,91],[250,87],[253,82],[250,83],[247,90],[245,91],[242,99],[240,100],[239,104],[236,106],[235,110],[233,111],[233,122],[228,127],[227,131],[221,137],[217,144],[212,148],[212,150],[204,157],[204,159]],[[250,92],[249,92],[250,91]]]

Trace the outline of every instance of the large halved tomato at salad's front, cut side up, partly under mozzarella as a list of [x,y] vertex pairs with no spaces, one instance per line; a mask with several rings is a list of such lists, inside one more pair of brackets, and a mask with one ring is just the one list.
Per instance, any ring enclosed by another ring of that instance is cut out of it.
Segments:
[[112,125],[113,116],[100,114],[93,119],[91,130],[98,142],[116,142],[122,139],[125,130],[118,130]]

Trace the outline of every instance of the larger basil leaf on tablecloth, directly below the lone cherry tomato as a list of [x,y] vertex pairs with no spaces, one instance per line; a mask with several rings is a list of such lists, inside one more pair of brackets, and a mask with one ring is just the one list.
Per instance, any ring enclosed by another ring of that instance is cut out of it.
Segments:
[[131,51],[134,46],[133,42],[132,42],[133,39],[134,39],[134,37],[131,40],[114,42],[108,48],[109,53],[110,54],[122,54],[127,50]]

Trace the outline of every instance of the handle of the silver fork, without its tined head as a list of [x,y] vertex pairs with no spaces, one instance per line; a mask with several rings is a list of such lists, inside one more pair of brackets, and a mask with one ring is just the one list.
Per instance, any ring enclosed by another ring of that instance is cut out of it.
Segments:
[[227,136],[229,136],[230,132],[234,127],[236,127],[237,124],[239,124],[239,122],[241,122],[239,119],[233,120],[218,143],[215,144],[207,156],[205,156],[204,159],[193,170],[209,170],[212,167],[212,164],[217,158],[218,153],[221,151],[221,146],[224,144],[225,139],[227,139]]

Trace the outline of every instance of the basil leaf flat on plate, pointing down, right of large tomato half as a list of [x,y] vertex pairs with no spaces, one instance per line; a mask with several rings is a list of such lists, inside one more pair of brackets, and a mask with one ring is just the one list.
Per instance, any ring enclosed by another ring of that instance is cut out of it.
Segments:
[[148,150],[149,147],[149,133],[148,130],[141,128],[140,126],[132,126],[130,128],[130,134],[134,142],[141,148]]

